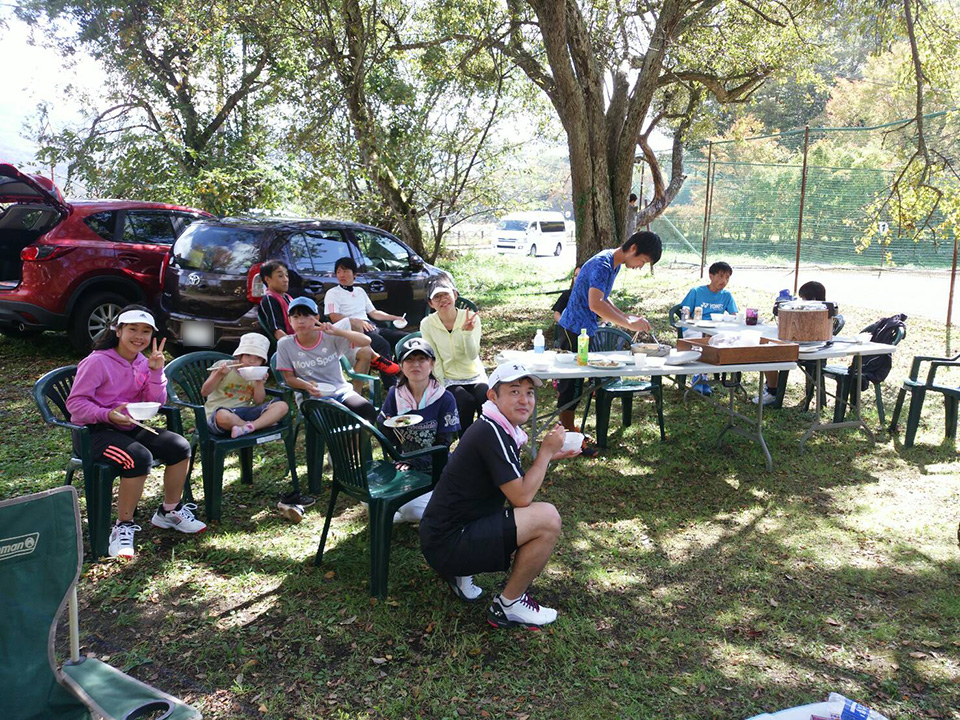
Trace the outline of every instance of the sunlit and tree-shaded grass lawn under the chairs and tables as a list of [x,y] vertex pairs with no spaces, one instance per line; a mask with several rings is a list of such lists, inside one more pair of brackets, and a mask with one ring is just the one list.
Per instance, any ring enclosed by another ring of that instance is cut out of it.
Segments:
[[[522,258],[447,267],[482,309],[488,365],[549,327],[554,296],[543,292],[568,282]],[[687,282],[665,268],[624,271],[616,300],[669,337],[666,311]],[[741,305],[771,305],[732,289]],[[848,327],[875,319],[842,310]],[[911,319],[888,413],[913,355],[943,345],[942,329]],[[65,346],[51,334],[0,339],[0,497],[62,482],[66,438],[40,423],[29,391],[77,360]],[[394,533],[390,597],[372,601],[365,515],[352,501],[313,567],[325,499],[300,525],[276,516],[287,487],[277,445],[252,486],[229,461],[223,522],[200,537],[148,527],[151,478],[137,559],[85,568],[83,643],[207,718],[739,719],[836,690],[891,719],[960,719],[960,460],[943,442],[942,405],[928,400],[909,450],[885,433],[871,445],[841,432],[800,454],[811,417],[791,379],[790,407],[766,418],[772,473],[752,443],[717,447],[720,417],[669,385],[666,443],[641,401],[632,427],[613,421],[603,457],[551,468],[539,497],[564,531],[533,588],[560,611],[546,632],[489,628],[483,603],[444,591],[408,525]],[[502,578],[478,583],[489,598]]]

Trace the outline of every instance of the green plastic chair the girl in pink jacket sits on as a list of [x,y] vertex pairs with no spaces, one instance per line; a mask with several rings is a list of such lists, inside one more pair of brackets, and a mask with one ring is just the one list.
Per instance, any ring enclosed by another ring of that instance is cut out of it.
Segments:
[[[110,540],[110,518],[113,503],[113,483],[120,477],[120,469],[94,457],[90,445],[90,430],[85,425],[70,422],[67,398],[77,375],[77,366],[51,370],[33,385],[33,400],[48,425],[70,431],[73,448],[66,466],[66,485],[73,483],[77,470],[83,473],[83,494],[87,504],[87,535],[93,560],[107,554]],[[167,429],[183,434],[180,410],[165,405],[160,413],[166,418]],[[191,447],[193,449],[193,447]],[[159,462],[153,463],[156,467]],[[184,487],[183,501],[193,502],[189,483]]]

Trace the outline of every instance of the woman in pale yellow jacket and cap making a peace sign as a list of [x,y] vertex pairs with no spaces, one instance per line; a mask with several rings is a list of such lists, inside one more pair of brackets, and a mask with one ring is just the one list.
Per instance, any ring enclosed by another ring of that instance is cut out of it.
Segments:
[[462,435],[487,399],[487,373],[480,361],[480,315],[458,310],[456,300],[451,284],[434,285],[427,302],[436,312],[420,322],[420,333],[436,352],[434,374],[457,401]]

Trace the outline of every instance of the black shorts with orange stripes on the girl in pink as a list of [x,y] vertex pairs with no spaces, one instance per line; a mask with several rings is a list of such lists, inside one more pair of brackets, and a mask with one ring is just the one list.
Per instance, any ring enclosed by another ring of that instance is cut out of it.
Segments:
[[154,459],[164,465],[176,465],[190,457],[190,443],[169,430],[149,430],[134,426],[120,430],[105,423],[90,425],[90,444],[98,460],[116,465],[120,477],[142,477],[150,472]]

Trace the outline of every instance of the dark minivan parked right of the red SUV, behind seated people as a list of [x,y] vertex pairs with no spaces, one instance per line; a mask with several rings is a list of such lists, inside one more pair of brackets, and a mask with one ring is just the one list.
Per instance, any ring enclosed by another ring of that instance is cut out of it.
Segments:
[[406,313],[415,330],[427,313],[427,285],[446,273],[428,265],[398,238],[368,225],[335,220],[208,220],[177,239],[164,275],[160,304],[167,335],[185,349],[229,348],[260,329],[260,265],[283,260],[290,294],[323,307],[337,285],[333,266],[352,257],[377,309]]

